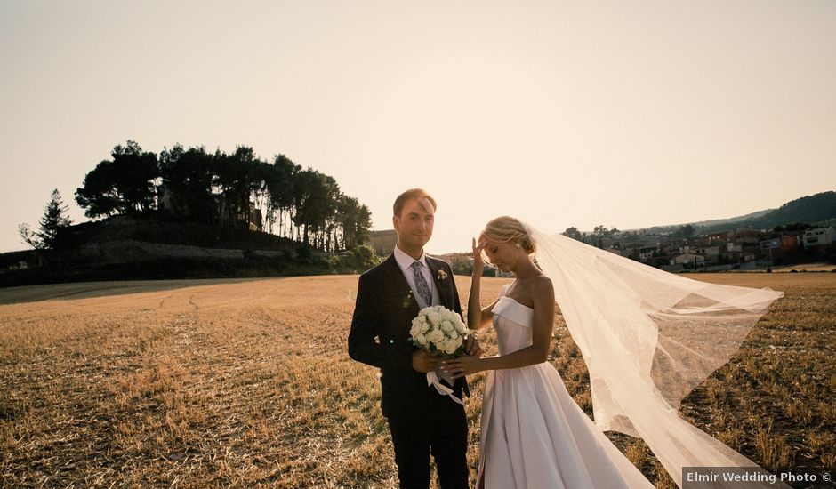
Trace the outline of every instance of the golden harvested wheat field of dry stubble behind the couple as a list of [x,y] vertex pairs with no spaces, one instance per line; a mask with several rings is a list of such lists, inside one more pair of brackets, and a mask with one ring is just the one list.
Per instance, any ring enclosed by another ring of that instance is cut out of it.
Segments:
[[[836,469],[836,274],[694,277],[786,296],[680,411],[770,470]],[[357,279],[0,290],[0,485],[396,486],[375,371],[346,354]],[[508,281],[486,279],[483,302]],[[467,297],[469,278],[456,283]],[[591,413],[559,315],[551,363]],[[483,378],[467,407],[473,476]],[[673,486],[644,444],[612,438]]]

